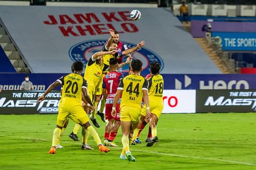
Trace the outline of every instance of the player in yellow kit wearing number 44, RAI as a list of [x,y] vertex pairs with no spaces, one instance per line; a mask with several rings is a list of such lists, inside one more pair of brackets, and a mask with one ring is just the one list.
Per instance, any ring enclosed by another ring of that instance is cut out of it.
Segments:
[[132,74],[124,77],[117,88],[117,92],[114,98],[112,116],[116,115],[116,105],[122,95],[120,103],[120,121],[121,129],[123,132],[122,144],[123,151],[120,155],[121,160],[128,159],[129,161],[135,161],[135,158],[130,152],[130,141],[132,142],[133,131],[140,119],[141,102],[142,98],[146,105],[146,117],[150,117],[150,107],[148,102],[148,81],[140,76],[142,71],[142,62],[138,59],[131,63]]

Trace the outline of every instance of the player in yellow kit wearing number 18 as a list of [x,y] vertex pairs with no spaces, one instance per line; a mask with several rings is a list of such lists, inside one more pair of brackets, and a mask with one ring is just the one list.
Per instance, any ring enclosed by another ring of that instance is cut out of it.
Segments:
[[[163,77],[159,74],[160,64],[158,62],[152,62],[150,65],[151,76],[148,80],[148,94],[150,95],[150,112],[152,114],[150,118],[150,128],[152,130],[152,138],[147,142],[146,146],[151,147],[157,140],[157,128],[156,123],[163,110]],[[136,143],[136,137],[141,130],[142,123],[146,117],[146,106],[142,107],[140,121],[133,134],[133,143]],[[144,126],[143,126],[144,127]]]

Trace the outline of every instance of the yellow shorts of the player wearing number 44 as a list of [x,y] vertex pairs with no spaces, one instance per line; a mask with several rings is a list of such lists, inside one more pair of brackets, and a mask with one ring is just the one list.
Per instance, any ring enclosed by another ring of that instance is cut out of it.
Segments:
[[120,120],[123,122],[132,122],[136,124],[140,120],[141,108],[122,106],[120,108]]

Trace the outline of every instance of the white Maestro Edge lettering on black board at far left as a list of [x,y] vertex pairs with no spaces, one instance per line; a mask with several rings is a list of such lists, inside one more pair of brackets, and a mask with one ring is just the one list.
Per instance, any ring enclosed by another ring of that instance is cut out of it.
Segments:
[[[36,107],[36,100],[8,100],[6,98],[0,99],[0,107]],[[39,113],[57,113],[59,100],[44,100],[39,103],[36,111]],[[51,106],[51,107],[50,107]]]

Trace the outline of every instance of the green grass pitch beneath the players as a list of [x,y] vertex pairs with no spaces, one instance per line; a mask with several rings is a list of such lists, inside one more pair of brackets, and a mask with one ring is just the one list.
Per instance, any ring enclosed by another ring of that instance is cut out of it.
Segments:
[[[255,113],[163,114],[159,143],[146,147],[146,127],[143,143],[131,146],[136,162],[119,160],[121,129],[115,140],[119,147],[105,154],[92,137],[95,150],[81,150],[81,142],[68,137],[75,125],[71,121],[62,137],[64,148],[48,154],[56,117],[0,115],[0,169],[256,169]],[[103,142],[100,125],[95,129]]]

